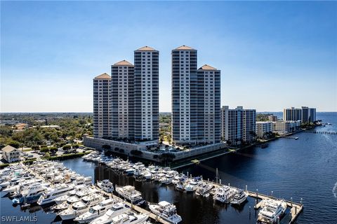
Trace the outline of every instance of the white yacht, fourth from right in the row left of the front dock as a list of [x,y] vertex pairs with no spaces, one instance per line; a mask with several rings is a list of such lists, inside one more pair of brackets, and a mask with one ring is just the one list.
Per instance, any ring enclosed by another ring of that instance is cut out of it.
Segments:
[[86,213],[89,209],[104,200],[101,195],[88,195],[82,198],[80,202],[75,202],[71,207],[61,211],[58,215],[62,220],[70,220]]

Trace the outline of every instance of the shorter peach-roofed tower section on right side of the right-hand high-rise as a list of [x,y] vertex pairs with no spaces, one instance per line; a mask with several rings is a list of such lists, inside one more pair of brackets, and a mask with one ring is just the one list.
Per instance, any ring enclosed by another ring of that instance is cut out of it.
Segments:
[[201,134],[198,140],[204,139],[208,144],[219,143],[221,137],[220,71],[207,64],[201,66],[197,71],[197,83],[198,133]]

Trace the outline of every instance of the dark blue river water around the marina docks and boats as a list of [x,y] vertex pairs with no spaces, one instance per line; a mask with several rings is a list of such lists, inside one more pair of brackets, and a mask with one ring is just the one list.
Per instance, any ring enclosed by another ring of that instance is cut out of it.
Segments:
[[[337,131],[337,113],[317,113],[317,119],[333,124],[317,127],[317,131]],[[278,139],[270,142],[267,148],[250,148],[223,155],[180,169],[180,172],[213,180],[218,168],[224,184],[239,188],[248,186],[251,191],[258,189],[259,193],[286,200],[292,197],[294,202],[303,198],[304,210],[296,223],[337,223],[337,135],[301,132],[295,136],[299,139]],[[173,202],[183,223],[256,223],[255,200],[252,198],[236,208],[218,204],[211,198],[178,192],[173,186],[135,181],[133,177],[114,174],[105,166],[84,162],[81,158],[62,162],[80,174],[93,176],[95,180],[110,179],[117,185],[133,185],[149,202]],[[4,216],[30,216],[30,221],[37,217],[36,223],[60,223],[48,209],[13,207],[1,193],[1,223]]]

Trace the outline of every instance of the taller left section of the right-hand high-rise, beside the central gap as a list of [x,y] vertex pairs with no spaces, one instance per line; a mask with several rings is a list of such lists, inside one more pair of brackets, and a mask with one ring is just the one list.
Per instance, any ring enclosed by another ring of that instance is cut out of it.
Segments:
[[183,45],[172,50],[173,143],[194,144],[198,140],[197,127],[197,50]]

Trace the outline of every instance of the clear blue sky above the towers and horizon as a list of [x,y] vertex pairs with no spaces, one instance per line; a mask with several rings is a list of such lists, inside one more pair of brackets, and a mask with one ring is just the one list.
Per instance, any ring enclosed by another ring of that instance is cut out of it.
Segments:
[[333,1],[1,1],[1,112],[92,111],[92,79],[133,50],[159,50],[159,111],[171,111],[171,50],[221,70],[221,104],[337,111]]

